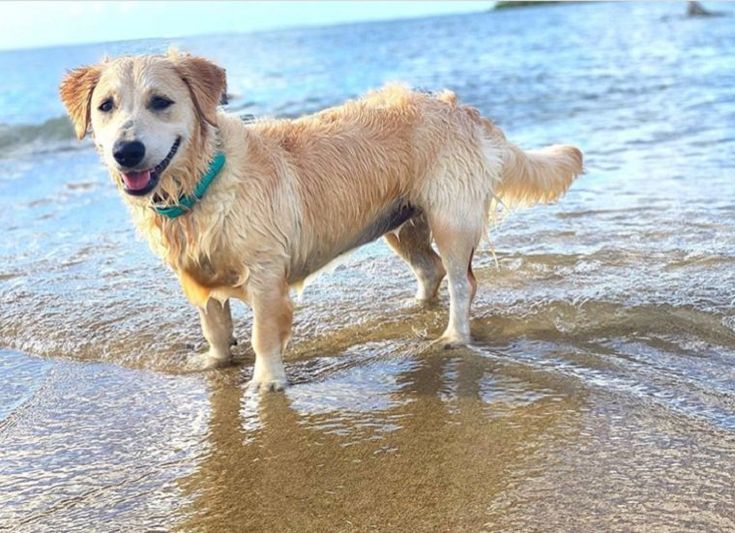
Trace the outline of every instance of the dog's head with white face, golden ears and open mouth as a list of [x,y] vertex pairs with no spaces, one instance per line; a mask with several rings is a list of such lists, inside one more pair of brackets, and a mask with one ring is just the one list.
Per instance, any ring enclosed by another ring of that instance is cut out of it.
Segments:
[[60,87],[77,137],[91,130],[118,187],[140,201],[187,163],[224,91],[224,69],[176,52],[77,68]]

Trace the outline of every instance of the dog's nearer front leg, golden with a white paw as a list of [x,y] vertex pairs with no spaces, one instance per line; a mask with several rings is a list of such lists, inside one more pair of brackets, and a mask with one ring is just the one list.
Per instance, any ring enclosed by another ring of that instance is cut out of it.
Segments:
[[286,386],[283,351],[291,338],[293,319],[288,284],[283,279],[257,281],[250,289],[255,367],[249,386],[267,391],[282,390]]

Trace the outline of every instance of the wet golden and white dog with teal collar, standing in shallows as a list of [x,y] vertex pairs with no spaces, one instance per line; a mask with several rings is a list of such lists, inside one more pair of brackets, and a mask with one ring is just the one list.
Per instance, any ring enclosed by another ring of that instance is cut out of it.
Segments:
[[245,124],[218,110],[225,83],[222,68],[172,51],[77,68],[60,93],[198,309],[209,342],[200,367],[230,362],[229,299],[252,307],[251,386],[261,390],[287,383],[289,289],[379,237],[413,270],[419,300],[448,277],[439,340],[468,343],[472,256],[495,203],[553,201],[582,172],[577,148],[523,151],[450,91],[391,85],[315,115]]

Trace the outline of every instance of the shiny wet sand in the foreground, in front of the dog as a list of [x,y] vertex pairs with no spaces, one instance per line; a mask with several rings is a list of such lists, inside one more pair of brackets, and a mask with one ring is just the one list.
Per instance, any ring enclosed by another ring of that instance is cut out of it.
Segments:
[[[527,354],[550,348],[542,342],[416,348],[372,342],[292,361],[292,372],[318,377],[263,396],[246,391],[239,369],[170,376],[4,353],[5,375],[30,399],[0,428],[10,472],[0,522],[57,531],[100,519],[108,531],[735,527],[732,432],[655,398],[529,368]],[[547,355],[568,365],[588,357],[572,351]]]

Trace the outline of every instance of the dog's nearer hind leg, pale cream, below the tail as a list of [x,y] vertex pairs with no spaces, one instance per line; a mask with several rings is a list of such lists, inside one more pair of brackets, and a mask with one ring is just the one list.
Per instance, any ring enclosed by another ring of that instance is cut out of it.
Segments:
[[[482,213],[482,209],[476,210]],[[471,209],[467,209],[471,213]],[[477,290],[472,255],[482,236],[483,220],[471,215],[431,217],[431,230],[449,278],[449,324],[437,341],[447,347],[470,342],[470,304]]]

